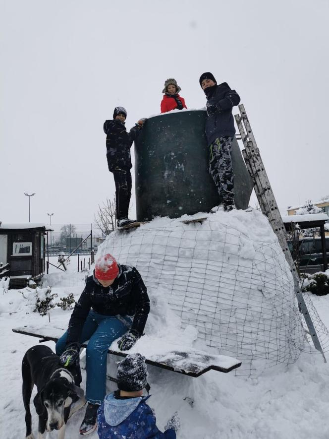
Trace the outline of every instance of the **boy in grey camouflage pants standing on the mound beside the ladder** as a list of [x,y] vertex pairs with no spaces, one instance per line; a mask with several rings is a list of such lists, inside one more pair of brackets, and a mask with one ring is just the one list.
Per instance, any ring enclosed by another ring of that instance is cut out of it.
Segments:
[[232,108],[240,97],[226,82],[217,85],[214,75],[205,72],[200,85],[207,96],[206,136],[210,145],[209,173],[218,188],[224,210],[234,207],[231,144],[235,134]]

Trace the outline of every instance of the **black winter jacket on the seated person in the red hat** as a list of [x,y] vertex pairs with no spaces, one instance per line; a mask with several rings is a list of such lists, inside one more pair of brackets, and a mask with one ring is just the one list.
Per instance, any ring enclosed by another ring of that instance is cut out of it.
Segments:
[[150,312],[150,299],[141,275],[135,267],[118,264],[119,274],[110,287],[103,287],[94,276],[75,304],[69,324],[66,345],[79,342],[84,322],[92,308],[102,315],[133,315],[130,331],[143,335]]

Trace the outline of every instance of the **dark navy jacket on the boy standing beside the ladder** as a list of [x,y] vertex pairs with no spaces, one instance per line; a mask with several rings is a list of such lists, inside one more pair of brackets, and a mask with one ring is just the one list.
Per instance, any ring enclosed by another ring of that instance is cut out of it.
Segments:
[[206,136],[210,145],[218,137],[235,134],[232,108],[240,102],[240,96],[235,90],[231,90],[226,82],[208,87],[205,90],[207,96],[207,108],[219,104],[223,112],[216,112],[208,116],[206,120]]

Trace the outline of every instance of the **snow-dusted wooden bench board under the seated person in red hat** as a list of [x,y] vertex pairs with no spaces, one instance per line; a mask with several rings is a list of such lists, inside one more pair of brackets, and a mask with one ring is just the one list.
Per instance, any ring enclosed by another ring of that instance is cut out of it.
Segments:
[[[49,340],[56,342],[65,331],[64,328],[50,325],[42,327],[33,325],[23,326],[13,328],[12,330],[19,334],[40,338],[40,342]],[[86,347],[86,344],[82,346]],[[109,354],[118,355],[120,357],[125,357],[129,354],[129,352],[121,352],[113,349],[109,349],[108,352]],[[140,353],[145,356],[147,364],[189,376],[200,376],[211,369],[227,373],[241,366],[240,361],[225,355],[211,355],[196,349],[189,349],[188,352],[182,352],[181,350],[174,349],[174,346],[171,351],[160,354]]]

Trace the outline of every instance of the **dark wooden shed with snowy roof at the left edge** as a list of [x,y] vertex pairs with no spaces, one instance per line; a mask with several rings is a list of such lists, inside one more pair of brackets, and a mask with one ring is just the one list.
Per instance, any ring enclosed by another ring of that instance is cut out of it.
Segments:
[[[0,265],[10,288],[22,288],[45,273],[45,224],[0,223]],[[9,271],[8,271],[9,270]]]

